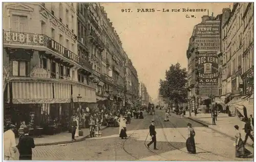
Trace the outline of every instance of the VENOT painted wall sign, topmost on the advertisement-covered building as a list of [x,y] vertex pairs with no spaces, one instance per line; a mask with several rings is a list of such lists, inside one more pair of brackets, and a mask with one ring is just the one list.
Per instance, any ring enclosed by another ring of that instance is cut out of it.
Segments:
[[220,38],[220,23],[206,22],[195,27],[195,36],[200,38]]

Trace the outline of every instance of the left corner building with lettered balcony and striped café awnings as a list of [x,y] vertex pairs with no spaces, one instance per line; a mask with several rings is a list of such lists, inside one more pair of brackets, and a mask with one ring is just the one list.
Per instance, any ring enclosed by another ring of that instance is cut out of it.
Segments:
[[84,67],[76,5],[4,3],[5,120],[41,127],[55,120],[67,128],[78,95],[79,102],[96,102],[92,80],[78,79]]

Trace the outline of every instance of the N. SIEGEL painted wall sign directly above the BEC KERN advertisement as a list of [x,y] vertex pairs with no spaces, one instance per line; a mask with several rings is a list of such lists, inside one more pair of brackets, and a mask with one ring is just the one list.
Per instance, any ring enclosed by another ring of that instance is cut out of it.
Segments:
[[220,38],[195,39],[199,51],[221,51]]

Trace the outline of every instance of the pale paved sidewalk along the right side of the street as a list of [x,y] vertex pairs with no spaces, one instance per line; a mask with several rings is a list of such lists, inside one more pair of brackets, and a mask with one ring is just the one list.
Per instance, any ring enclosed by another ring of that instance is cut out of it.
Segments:
[[[238,117],[228,117],[226,113],[219,113],[216,121],[216,125],[211,125],[211,114],[209,113],[199,113],[197,117],[195,117],[195,113],[191,113],[191,117],[189,117],[189,111],[186,111],[186,118],[194,120],[198,123],[203,124],[206,127],[214,129],[220,133],[226,134],[230,137],[234,137],[236,134],[236,130],[234,129],[234,125],[239,126],[239,130],[242,135],[242,140],[245,138],[245,132],[242,128],[244,128],[245,123],[242,122]],[[247,144],[253,144],[250,137],[248,137]]]

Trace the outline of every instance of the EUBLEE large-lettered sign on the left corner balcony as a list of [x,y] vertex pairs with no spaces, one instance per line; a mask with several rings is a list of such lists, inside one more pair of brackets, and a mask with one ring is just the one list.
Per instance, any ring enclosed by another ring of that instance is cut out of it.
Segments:
[[4,43],[45,45],[45,35],[4,31]]

